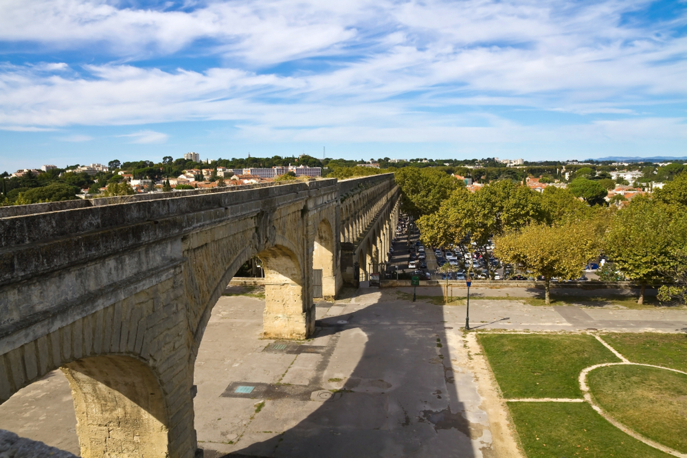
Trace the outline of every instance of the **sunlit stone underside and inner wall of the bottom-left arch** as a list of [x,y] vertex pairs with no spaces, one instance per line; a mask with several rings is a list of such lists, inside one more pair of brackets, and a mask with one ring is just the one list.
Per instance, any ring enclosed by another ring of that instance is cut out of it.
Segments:
[[71,387],[82,457],[175,455],[169,447],[166,398],[146,363],[106,355],[60,369]]

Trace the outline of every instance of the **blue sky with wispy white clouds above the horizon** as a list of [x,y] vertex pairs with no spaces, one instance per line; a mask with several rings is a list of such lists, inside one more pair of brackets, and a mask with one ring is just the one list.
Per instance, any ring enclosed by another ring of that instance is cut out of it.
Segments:
[[0,2],[0,171],[687,156],[687,1]]

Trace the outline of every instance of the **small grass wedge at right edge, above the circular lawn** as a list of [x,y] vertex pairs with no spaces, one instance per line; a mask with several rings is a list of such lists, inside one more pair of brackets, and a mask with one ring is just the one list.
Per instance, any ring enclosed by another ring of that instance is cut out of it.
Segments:
[[613,333],[602,335],[602,339],[633,363],[653,364],[687,372],[686,334]]

